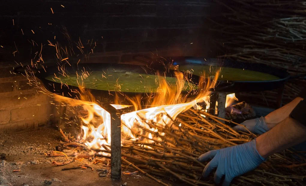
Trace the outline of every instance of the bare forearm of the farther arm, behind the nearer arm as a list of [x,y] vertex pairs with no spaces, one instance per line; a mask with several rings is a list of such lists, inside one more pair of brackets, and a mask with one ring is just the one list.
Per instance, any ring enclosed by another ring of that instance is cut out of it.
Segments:
[[285,106],[274,110],[273,112],[269,113],[267,116],[265,116],[265,122],[267,124],[267,127],[269,129],[275,127],[278,125],[281,121],[289,117],[289,114],[291,111],[297,106],[297,104],[302,101],[303,98],[297,97],[290,103],[286,104]]

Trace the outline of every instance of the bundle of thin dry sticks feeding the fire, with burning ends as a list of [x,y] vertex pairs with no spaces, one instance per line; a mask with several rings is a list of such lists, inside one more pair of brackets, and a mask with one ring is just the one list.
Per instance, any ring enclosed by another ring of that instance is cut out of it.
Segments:
[[[137,140],[127,139],[121,147],[123,169],[136,169],[162,185],[168,184],[153,175],[171,180],[175,178],[189,185],[212,186],[213,175],[201,179],[208,162],[201,163],[197,158],[205,152],[246,143],[256,137],[252,132],[235,131],[223,123],[231,120],[218,118],[203,110],[189,109],[171,120],[170,124],[165,125],[153,121],[147,123],[158,129],[157,132],[138,126],[135,133]],[[144,122],[147,121],[144,119]],[[65,162],[53,161],[54,165],[66,165],[77,158],[90,158],[91,163],[106,163],[105,158],[110,157],[108,145],[103,145],[103,150],[89,149],[82,143],[69,140],[64,133],[62,135],[67,142],[58,150],[63,152],[52,151],[48,156],[73,158]],[[64,153],[67,148],[74,152]],[[305,158],[297,152],[285,150],[269,157],[256,170],[236,177],[232,185],[306,185],[305,165]]]

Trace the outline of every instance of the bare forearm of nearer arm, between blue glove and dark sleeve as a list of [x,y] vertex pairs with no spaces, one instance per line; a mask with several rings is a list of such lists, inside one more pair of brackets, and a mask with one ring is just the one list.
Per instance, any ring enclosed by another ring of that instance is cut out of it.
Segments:
[[306,126],[287,117],[270,131],[256,138],[256,149],[263,158],[267,158],[304,141],[306,141]]

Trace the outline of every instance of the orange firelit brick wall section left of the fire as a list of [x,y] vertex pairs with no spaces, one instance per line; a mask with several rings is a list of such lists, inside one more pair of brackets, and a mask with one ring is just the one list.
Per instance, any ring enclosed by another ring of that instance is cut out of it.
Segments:
[[38,94],[24,76],[13,74],[12,66],[1,62],[0,74],[0,131],[33,129],[56,119],[52,99]]

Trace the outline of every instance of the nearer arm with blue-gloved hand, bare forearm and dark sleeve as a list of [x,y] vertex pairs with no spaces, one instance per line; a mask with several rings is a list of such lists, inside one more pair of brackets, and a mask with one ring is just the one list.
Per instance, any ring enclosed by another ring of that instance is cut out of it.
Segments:
[[[255,169],[268,156],[305,141],[306,118],[303,115],[305,108],[306,103],[303,101],[294,109],[293,113],[297,113],[296,115],[288,114],[290,117],[285,118],[255,140],[202,154],[198,158],[200,162],[206,162],[212,158],[203,170],[203,177],[207,177],[213,169],[217,168],[215,183],[220,184],[224,176],[222,186],[228,186],[234,177]],[[302,112],[298,113],[298,110]]]

